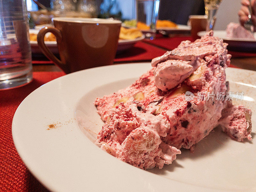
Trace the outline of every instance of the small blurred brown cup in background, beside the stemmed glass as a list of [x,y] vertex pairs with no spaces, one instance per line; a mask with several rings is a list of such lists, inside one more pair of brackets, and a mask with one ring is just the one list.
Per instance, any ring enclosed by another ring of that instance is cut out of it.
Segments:
[[190,15],[189,22],[191,25],[191,36],[194,40],[200,38],[197,33],[200,31],[205,31],[207,26],[207,16],[206,15]]

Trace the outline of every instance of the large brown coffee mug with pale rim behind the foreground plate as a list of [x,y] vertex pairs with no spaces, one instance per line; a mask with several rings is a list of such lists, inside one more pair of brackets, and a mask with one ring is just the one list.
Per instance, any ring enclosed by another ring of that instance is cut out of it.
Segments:
[[[95,18],[52,18],[54,27],[44,27],[37,42],[44,55],[65,73],[112,65],[116,55],[121,21]],[[56,36],[60,60],[44,44],[44,36]]]

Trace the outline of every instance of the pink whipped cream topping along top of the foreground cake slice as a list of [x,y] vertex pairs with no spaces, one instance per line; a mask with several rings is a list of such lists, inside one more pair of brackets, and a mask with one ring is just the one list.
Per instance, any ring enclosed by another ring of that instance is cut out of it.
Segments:
[[226,47],[227,44],[213,37],[212,32],[193,43],[181,42],[176,49],[152,60],[152,67],[156,67],[156,87],[162,91],[174,88],[196,71],[202,58],[222,52]]

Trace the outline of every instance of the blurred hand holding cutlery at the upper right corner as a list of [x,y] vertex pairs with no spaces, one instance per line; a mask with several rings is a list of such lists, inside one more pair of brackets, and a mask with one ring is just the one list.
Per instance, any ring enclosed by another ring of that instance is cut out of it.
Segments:
[[[242,7],[238,12],[239,20],[241,25],[244,26],[244,22],[248,20],[249,15],[249,0],[241,0]],[[254,31],[256,30],[256,0],[251,0],[251,6],[252,6],[252,14],[251,19],[252,23],[254,25]]]

